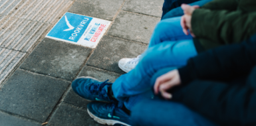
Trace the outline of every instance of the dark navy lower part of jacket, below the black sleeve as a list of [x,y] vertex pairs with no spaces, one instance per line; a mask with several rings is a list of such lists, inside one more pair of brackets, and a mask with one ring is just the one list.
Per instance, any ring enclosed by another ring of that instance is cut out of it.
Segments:
[[256,125],[256,89],[251,86],[194,80],[172,94],[174,101],[218,125]]

